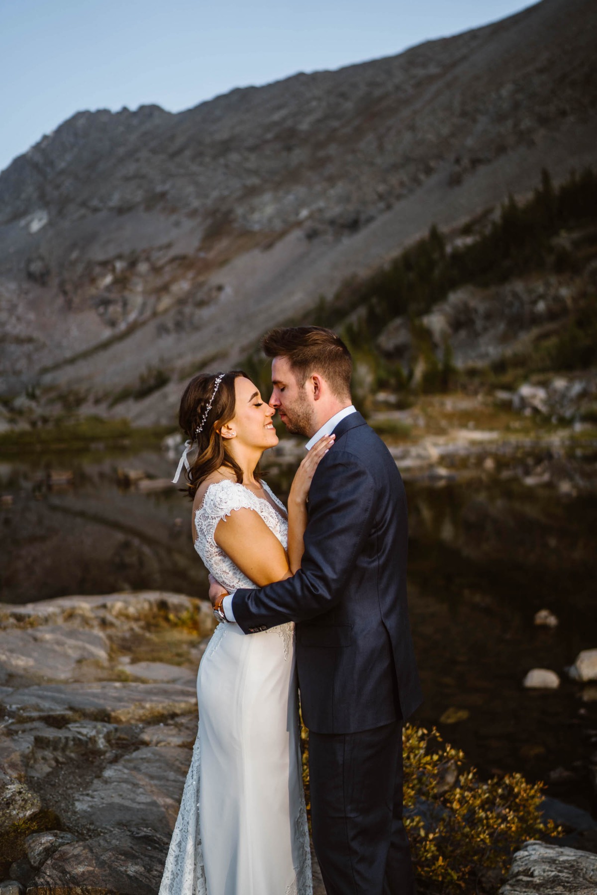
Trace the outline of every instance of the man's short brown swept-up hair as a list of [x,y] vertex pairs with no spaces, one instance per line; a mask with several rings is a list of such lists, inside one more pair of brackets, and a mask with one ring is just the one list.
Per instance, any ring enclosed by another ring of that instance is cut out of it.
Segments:
[[350,397],[353,359],[331,329],[278,327],[263,337],[261,347],[266,357],[286,357],[301,387],[313,373],[320,373],[337,398]]

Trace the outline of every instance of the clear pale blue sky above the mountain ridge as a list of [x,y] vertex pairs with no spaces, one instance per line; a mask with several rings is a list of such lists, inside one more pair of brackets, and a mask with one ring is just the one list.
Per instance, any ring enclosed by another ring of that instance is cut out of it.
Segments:
[[82,109],[172,112],[399,53],[524,0],[0,0],[0,170]]

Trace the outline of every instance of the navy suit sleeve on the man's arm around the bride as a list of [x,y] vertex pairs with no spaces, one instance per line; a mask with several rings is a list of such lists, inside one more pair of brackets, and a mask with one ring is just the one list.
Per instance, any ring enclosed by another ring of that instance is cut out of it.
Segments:
[[371,531],[373,499],[366,467],[352,454],[332,448],[311,482],[301,568],[285,581],[235,592],[232,609],[245,634],[314,618],[342,599]]

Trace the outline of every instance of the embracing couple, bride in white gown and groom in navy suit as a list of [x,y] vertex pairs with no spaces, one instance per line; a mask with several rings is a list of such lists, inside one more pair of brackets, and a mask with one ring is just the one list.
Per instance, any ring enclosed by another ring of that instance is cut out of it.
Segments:
[[[197,678],[199,732],[160,895],[412,895],[402,725],[421,702],[406,603],[406,499],[351,403],[351,356],[320,327],[279,328],[266,403],[242,371],[200,374],[180,424],[192,540],[220,624]],[[307,454],[288,507],[261,478],[272,416]]]

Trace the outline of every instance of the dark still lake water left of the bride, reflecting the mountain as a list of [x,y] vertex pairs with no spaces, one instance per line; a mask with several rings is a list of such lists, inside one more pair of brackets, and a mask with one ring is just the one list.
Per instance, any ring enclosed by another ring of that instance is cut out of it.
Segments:
[[[151,468],[167,461],[156,456]],[[207,581],[192,548],[190,503],[174,490],[119,490],[107,465],[76,467],[69,489],[22,487],[4,517],[0,600],[27,602],[71,593],[168,590],[197,595]]]

